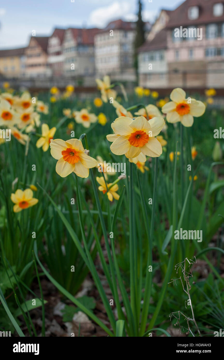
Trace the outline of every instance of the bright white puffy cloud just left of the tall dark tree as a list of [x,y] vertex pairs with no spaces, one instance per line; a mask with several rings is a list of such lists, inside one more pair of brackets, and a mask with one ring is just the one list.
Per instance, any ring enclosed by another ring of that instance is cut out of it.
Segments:
[[92,25],[104,27],[108,22],[125,18],[126,14],[131,12],[130,1],[115,1],[111,5],[93,10],[89,16],[89,22]]

